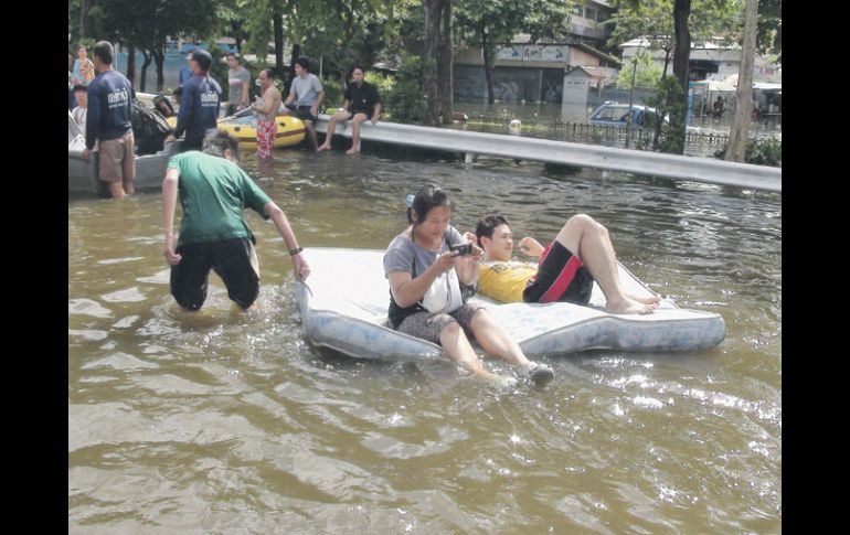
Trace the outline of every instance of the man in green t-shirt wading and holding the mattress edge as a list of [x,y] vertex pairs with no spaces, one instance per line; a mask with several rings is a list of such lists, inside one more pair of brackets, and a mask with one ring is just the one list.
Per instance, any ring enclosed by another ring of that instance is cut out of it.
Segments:
[[[162,182],[166,226],[166,260],[171,265],[171,295],[187,310],[198,310],[206,299],[210,269],[224,281],[227,296],[242,309],[253,309],[259,293],[256,239],[242,216],[253,208],[269,217],[289,248],[296,280],[310,272],[286,214],[275,204],[237,160],[238,143],[222,131],[210,133],[203,152],[172,157]],[[174,243],[174,206],[178,188],[183,218]]]

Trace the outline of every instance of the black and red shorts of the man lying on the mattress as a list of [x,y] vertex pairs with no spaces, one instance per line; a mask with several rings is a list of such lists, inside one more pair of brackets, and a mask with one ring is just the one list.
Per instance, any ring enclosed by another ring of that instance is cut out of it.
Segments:
[[587,304],[593,290],[593,277],[578,257],[561,242],[554,242],[546,258],[538,266],[536,275],[522,292],[525,302],[563,301]]

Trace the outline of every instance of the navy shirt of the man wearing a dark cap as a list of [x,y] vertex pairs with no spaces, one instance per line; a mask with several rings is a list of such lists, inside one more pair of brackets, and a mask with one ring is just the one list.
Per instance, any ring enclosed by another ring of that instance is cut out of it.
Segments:
[[203,139],[206,130],[215,128],[221,108],[222,88],[210,76],[194,75],[183,85],[180,113],[177,116],[174,137],[185,132],[185,141]]

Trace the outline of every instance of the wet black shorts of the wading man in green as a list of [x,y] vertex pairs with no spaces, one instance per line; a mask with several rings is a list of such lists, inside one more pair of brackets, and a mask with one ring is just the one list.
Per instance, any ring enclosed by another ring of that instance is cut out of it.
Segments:
[[227,297],[246,309],[259,295],[259,275],[252,265],[254,246],[248,238],[181,245],[177,253],[183,258],[171,266],[171,295],[178,304],[198,310],[206,300],[210,269],[222,278]]

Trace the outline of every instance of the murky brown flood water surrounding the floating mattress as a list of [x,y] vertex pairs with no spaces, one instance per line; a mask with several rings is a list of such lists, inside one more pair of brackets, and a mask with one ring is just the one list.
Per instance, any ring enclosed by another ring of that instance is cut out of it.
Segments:
[[305,341],[286,246],[253,212],[259,313],[232,312],[212,275],[190,315],[156,192],[71,200],[71,533],[780,532],[779,195],[364,150],[244,165],[307,247],[384,248],[425,182],[461,231],[498,208],[544,240],[588,213],[637,277],[722,314],[725,341],[552,357],[553,383],[512,390],[358,361]]

